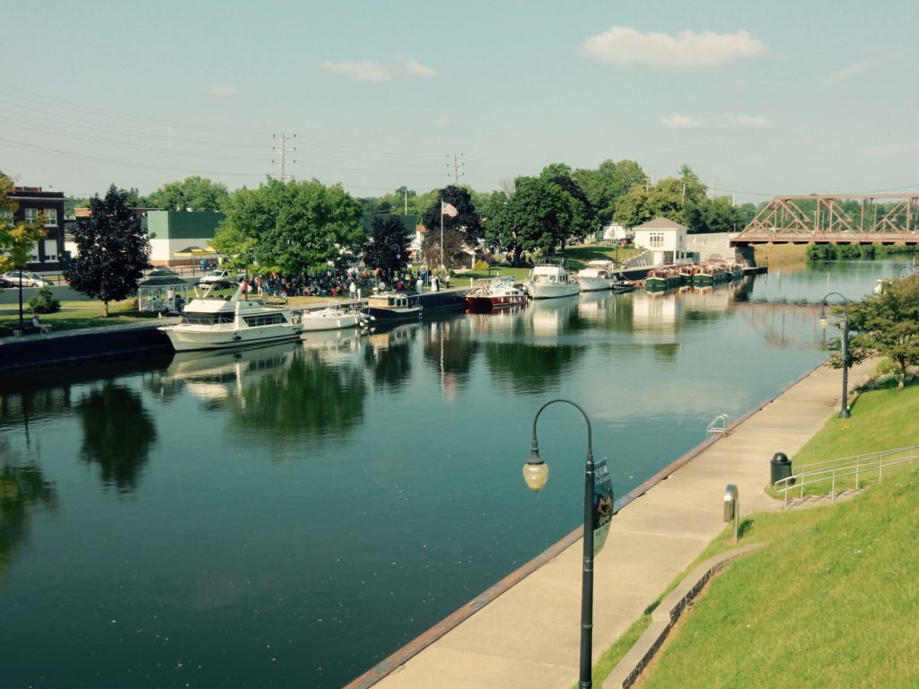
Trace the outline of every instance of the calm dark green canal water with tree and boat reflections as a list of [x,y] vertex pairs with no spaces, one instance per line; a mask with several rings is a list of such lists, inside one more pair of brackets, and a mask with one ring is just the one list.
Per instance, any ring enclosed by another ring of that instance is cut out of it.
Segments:
[[823,361],[824,295],[904,265],[0,378],[3,685],[341,686],[580,523],[573,408],[521,477],[543,402],[584,407],[621,496]]

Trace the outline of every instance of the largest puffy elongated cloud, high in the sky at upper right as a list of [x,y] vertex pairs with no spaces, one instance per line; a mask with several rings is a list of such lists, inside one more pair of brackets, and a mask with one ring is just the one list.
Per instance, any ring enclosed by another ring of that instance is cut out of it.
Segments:
[[746,31],[683,31],[677,36],[612,27],[584,40],[584,53],[610,64],[661,67],[716,66],[763,52],[763,44]]

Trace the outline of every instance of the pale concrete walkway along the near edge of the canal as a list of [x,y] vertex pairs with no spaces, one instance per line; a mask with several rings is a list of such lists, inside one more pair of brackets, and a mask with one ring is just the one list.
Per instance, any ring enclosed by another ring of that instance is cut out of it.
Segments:
[[[874,366],[853,367],[849,380]],[[737,485],[742,515],[781,508],[763,492],[769,459],[793,457],[838,412],[841,375],[812,371],[691,461],[681,457],[682,467],[613,517],[595,561],[595,661],[725,528],[726,484]],[[379,682],[380,666],[348,686],[569,689],[578,678],[581,550],[578,539]]]

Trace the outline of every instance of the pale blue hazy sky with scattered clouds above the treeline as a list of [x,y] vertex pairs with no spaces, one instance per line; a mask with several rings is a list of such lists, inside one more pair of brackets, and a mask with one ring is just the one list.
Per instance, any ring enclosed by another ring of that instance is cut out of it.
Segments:
[[284,147],[287,175],[356,197],[623,159],[737,203],[919,193],[917,20],[914,0],[11,2],[0,171],[233,191]]

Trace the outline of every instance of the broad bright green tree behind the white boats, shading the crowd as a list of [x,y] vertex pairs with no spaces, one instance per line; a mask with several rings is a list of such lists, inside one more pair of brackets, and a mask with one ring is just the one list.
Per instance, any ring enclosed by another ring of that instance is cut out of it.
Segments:
[[366,242],[361,205],[341,185],[269,179],[233,192],[223,212],[213,246],[237,265],[299,275],[328,261],[342,265]]

